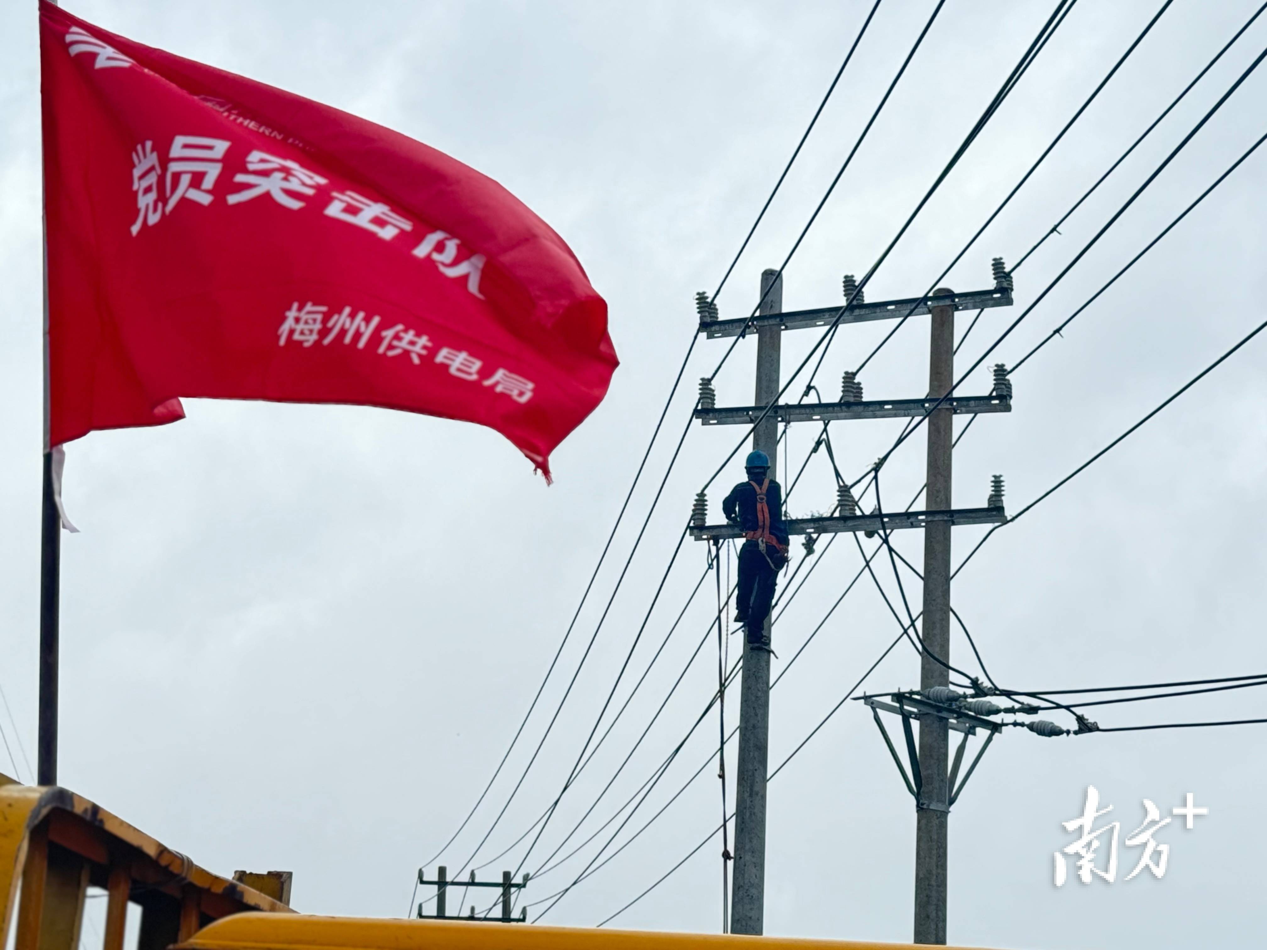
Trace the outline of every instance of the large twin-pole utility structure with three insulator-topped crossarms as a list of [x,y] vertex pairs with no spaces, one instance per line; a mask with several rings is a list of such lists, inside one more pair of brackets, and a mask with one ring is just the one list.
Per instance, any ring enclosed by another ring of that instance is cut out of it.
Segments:
[[[812,422],[824,424],[846,419],[921,418],[929,415],[927,457],[927,508],[922,512],[858,512],[858,502],[849,485],[837,485],[835,510],[831,514],[808,518],[784,518],[788,535],[820,535],[839,532],[865,532],[886,535],[902,528],[922,528],[924,556],[924,641],[927,650],[922,657],[922,689],[946,687],[946,669],[931,654],[949,659],[950,640],[950,528],[960,524],[1001,524],[1007,521],[1003,510],[1002,478],[995,476],[990,497],[983,508],[950,507],[950,447],[952,422],[959,414],[1005,413],[1012,408],[1012,389],[1003,366],[995,367],[995,384],[986,395],[953,395],[936,409],[954,381],[954,312],[1012,305],[1012,280],[1002,258],[992,265],[995,284],[987,290],[955,294],[945,288],[931,295],[867,303],[851,275],[845,275],[843,290],[845,304],[818,307],[808,310],[783,310],[783,286],[777,281],[777,271],[761,274],[763,303],[758,314],[749,318],[721,319],[717,307],[706,293],[696,295],[699,332],[710,339],[735,337],[756,332],[756,399],[755,405],[717,407],[717,393],[712,377],[699,381],[699,402],[696,418],[703,426],[754,426],[753,447],[770,457],[770,475],[778,447],[779,423]],[[844,372],[840,400],[834,403],[775,404],[779,394],[779,341],[783,331],[818,329],[870,320],[891,320],[903,317],[929,314],[933,320],[933,347],[929,372],[929,393],[917,399],[864,400],[862,383],[854,372]],[[708,499],[704,493],[696,495],[691,513],[691,537],[696,541],[720,542],[742,537],[735,524],[708,524]],[[806,556],[812,554],[807,545]],[[767,618],[765,635],[770,635]],[[746,640],[746,638],[745,638]],[[950,690],[954,693],[954,690]],[[761,934],[764,930],[765,896],[765,778],[768,768],[769,712],[770,712],[770,655],[764,650],[750,650],[745,643],[742,695],[739,722],[739,770],[735,801],[735,874],[731,889],[732,934]],[[958,695],[958,694],[955,694]],[[900,706],[883,706],[889,712],[902,712],[907,752],[911,757],[914,782],[907,788],[917,806],[917,849],[915,885],[915,940],[916,942],[944,944],[946,922],[946,818],[949,814],[949,787],[959,771],[964,747],[960,746],[955,763],[948,765],[948,717],[967,713],[958,707],[927,702],[926,698],[902,694]],[[924,714],[933,712],[936,714]],[[920,714],[920,751],[916,754],[910,717]],[[879,719],[877,718],[877,723]],[[964,725],[967,722],[967,725]],[[976,716],[971,721],[955,719],[954,728],[965,735],[973,730],[988,730],[993,737],[997,725]],[[1044,727],[1045,728],[1045,727]],[[1052,728],[1055,728],[1054,726]],[[881,728],[883,732],[883,727]],[[886,742],[889,742],[887,733]],[[1047,733],[1043,733],[1047,735]],[[1053,733],[1054,735],[1054,733]],[[897,760],[889,742],[889,751]],[[983,751],[983,750],[982,750]],[[979,761],[973,760],[968,775]],[[901,763],[898,763],[901,768]],[[921,771],[922,766],[922,771]],[[967,775],[963,782],[967,782]],[[962,789],[960,782],[958,788]]]

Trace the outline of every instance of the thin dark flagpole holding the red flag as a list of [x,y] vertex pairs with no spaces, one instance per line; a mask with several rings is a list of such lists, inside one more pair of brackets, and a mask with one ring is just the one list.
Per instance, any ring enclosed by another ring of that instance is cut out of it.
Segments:
[[[49,3],[54,6],[57,5],[57,0],[49,0]],[[43,155],[43,151],[41,151],[41,155]],[[43,199],[42,167],[41,198]],[[52,415],[49,412],[48,379],[48,223],[47,219],[43,219],[43,206],[41,206],[41,215],[44,246],[44,490],[39,518],[39,738],[35,784],[56,785],[62,521],[53,495]]]

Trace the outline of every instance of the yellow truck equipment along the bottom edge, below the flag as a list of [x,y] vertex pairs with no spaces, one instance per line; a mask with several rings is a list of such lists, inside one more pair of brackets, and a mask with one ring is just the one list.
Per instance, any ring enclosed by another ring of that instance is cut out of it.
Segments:
[[0,947],[13,950],[98,950],[80,934],[89,885],[106,892],[100,950],[124,950],[129,903],[141,907],[136,950],[755,950],[754,941],[761,950],[915,950],[835,940],[318,917],[290,909],[289,874],[236,877],[199,868],[72,792],[0,775]]

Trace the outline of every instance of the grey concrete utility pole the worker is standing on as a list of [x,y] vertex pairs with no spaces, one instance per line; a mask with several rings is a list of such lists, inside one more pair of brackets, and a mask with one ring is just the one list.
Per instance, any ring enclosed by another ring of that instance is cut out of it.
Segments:
[[[761,315],[783,310],[783,279],[778,271],[761,272]],[[783,328],[756,331],[756,405],[765,407],[779,394],[779,348]],[[775,478],[779,421],[767,415],[753,432],[753,448],[770,457]],[[772,611],[773,613],[773,611]],[[765,618],[765,636],[772,636]],[[773,641],[772,641],[773,642]],[[744,676],[739,700],[739,770],[735,787],[735,880],[731,887],[731,934],[761,934],[765,925],[765,770],[770,741],[770,655],[748,647],[744,637]]]

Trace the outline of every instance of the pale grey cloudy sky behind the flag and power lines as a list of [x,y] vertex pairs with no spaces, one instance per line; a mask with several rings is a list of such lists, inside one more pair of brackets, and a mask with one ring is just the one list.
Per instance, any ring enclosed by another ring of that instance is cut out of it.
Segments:
[[[284,86],[390,125],[492,175],[573,246],[611,307],[622,358],[594,415],[556,452],[547,489],[502,437],[375,409],[191,400],[189,418],[96,433],[68,447],[62,580],[62,783],[220,873],[295,871],[303,911],[402,915],[419,863],[447,840],[527,708],[580,598],[691,338],[692,295],[712,289],[839,66],[869,4],[332,3],[76,0],[110,30]],[[921,293],[1072,115],[1157,6],[1083,0],[867,289]],[[1248,18],[1252,0],[1178,0],[946,282],[988,286],[990,258],[1015,261]],[[818,129],[720,298],[755,303],[931,0],[884,0]],[[840,299],[981,113],[1050,4],[949,0],[887,109],[788,269],[784,307]],[[28,754],[35,742],[41,448],[39,123],[35,5],[0,9],[0,684]],[[1017,307],[990,310],[964,366],[1031,303],[1249,61],[1267,18],[1148,143],[1016,275]],[[1256,73],[1140,201],[997,351],[1015,362],[1130,258],[1264,130]],[[1015,408],[973,427],[955,455],[955,503],[984,503],[1007,476],[1012,510],[1107,443],[1264,318],[1261,194],[1251,158],[1135,270],[1016,374]],[[963,324],[960,324],[963,326]],[[925,319],[868,366],[869,396],[926,388]],[[824,394],[887,327],[841,332]],[[784,367],[815,334],[784,339]],[[720,358],[702,341],[653,456],[616,557],[564,654],[570,674],[693,400]],[[1020,689],[1234,675],[1267,668],[1267,339],[1256,339],[1104,461],[991,540],[959,575],[954,604],[993,676]],[[717,380],[720,404],[751,398],[754,345]],[[995,357],[991,358],[993,362]],[[965,386],[984,391],[984,367]],[[901,424],[836,424],[859,474]],[[489,837],[494,858],[557,794],[664,570],[691,498],[737,428],[693,429],[647,537],[545,750]],[[812,440],[791,438],[793,465]],[[834,500],[824,453],[793,514]],[[886,469],[889,504],[922,481],[922,440]],[[740,472],[711,490],[713,512]],[[955,532],[957,560],[981,528]],[[868,546],[873,542],[867,542]],[[921,538],[896,538],[919,562]],[[820,550],[821,550],[820,545]],[[799,548],[796,548],[799,556]],[[860,559],[826,555],[775,630],[787,665]],[[617,698],[646,668],[704,567],[678,559]],[[892,573],[879,571],[896,594]],[[594,763],[563,799],[536,869],[594,801],[704,636],[710,579]],[[919,598],[907,578],[907,593]],[[772,698],[779,763],[897,632],[859,584]],[[735,641],[737,645],[737,640]],[[968,662],[955,635],[954,657]],[[917,685],[900,647],[867,687]],[[551,680],[542,711],[564,678]],[[583,840],[651,774],[716,684],[710,640]],[[1262,716],[1254,690],[1107,707],[1102,725]],[[727,704],[737,716],[737,689]],[[470,827],[445,851],[462,865],[545,728],[512,756]],[[0,717],[13,741],[11,722]],[[630,823],[650,816],[716,749],[710,717]],[[1267,849],[1262,727],[1044,740],[1009,730],[954,809],[953,942],[1006,947],[1190,947],[1261,931]],[[727,763],[734,770],[734,746]],[[30,779],[19,756],[19,771]],[[6,760],[0,769],[8,770]],[[715,771],[551,911],[593,925],[716,826]],[[1167,813],[1194,792],[1210,808],[1172,825],[1164,879],[1052,884],[1059,822],[1096,784],[1123,835],[1143,798]],[[731,794],[731,802],[734,797]],[[770,785],[770,934],[908,940],[915,816],[879,736],[846,704]],[[574,839],[576,841],[578,839]],[[606,840],[542,874],[568,884]],[[621,839],[623,840],[623,837]],[[519,849],[481,874],[513,868]],[[570,846],[569,846],[570,850]],[[617,922],[716,931],[715,841]],[[566,850],[561,854],[566,854]],[[428,871],[433,865],[428,866]],[[468,903],[470,903],[468,901]]]

